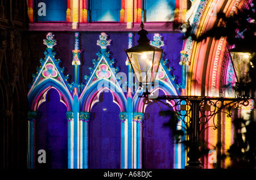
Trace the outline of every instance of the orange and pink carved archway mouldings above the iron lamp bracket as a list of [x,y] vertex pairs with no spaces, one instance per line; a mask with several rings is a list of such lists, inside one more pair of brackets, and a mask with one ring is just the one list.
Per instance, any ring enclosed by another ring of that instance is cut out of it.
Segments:
[[[220,1],[214,2],[201,1],[200,6],[194,8],[193,19],[195,23],[195,33],[200,35],[202,32],[217,27],[221,20],[217,19],[217,12],[224,12],[229,16],[242,6],[246,1]],[[194,5],[192,5],[194,6]],[[195,4],[196,6],[196,4]],[[226,57],[225,52],[228,48],[226,38],[216,40],[213,37],[207,38],[203,42],[193,42],[190,39],[185,41],[184,50],[188,52],[191,61],[188,66],[187,95],[191,96],[219,96],[222,91],[226,76]],[[193,73],[192,73],[193,72]]]

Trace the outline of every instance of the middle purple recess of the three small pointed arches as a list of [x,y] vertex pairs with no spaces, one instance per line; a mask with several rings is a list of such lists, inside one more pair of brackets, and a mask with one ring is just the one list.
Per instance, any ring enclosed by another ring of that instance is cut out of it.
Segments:
[[92,109],[90,122],[90,164],[92,169],[121,167],[120,109],[111,92],[103,92]]

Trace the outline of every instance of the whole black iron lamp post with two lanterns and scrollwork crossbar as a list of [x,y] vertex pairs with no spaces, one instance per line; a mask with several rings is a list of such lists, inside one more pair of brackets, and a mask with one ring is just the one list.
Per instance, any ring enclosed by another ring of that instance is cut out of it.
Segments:
[[[249,105],[249,99],[252,97],[254,98],[254,96],[248,96],[246,91],[243,93],[238,93],[239,96],[236,98],[206,96],[158,96],[151,98],[150,91],[148,91],[148,89],[154,87],[163,50],[149,45],[150,40],[147,38],[148,32],[143,29],[143,23],[141,24],[141,28],[141,31],[138,32],[138,35],[140,35],[138,45],[125,50],[135,72],[135,76],[139,82],[139,87],[143,89],[142,95],[138,97],[144,98],[143,102],[145,104],[159,101],[174,110],[177,117],[183,121],[188,139],[191,142],[187,154],[189,161],[187,162],[188,165],[185,166],[185,168],[202,169],[203,166],[201,166],[201,162],[199,161],[199,158],[201,157],[199,143],[201,135],[203,135],[205,129],[210,127],[208,126],[208,122],[212,119],[212,127],[214,129],[218,128],[217,123],[214,122],[214,117],[217,113],[221,113],[222,110],[225,109],[224,113],[226,113],[228,117],[231,117],[232,109]],[[253,55],[251,53],[245,53],[242,57],[240,57],[240,54],[242,53],[238,53],[236,50],[230,50],[230,57],[234,59],[234,69],[239,70],[236,72],[238,82],[239,80],[249,78],[247,75],[247,68],[245,67],[248,65],[251,66],[250,61],[247,59]],[[243,61],[241,61],[241,59],[243,59]],[[246,66],[242,66],[241,62],[246,63]],[[246,70],[242,70],[242,67],[244,67]],[[240,87],[240,89],[241,84],[242,82],[237,83],[237,87]],[[146,92],[144,91],[145,88]],[[242,87],[242,89],[243,88],[244,87]],[[240,89],[236,90],[240,91]],[[160,100],[167,100],[167,102]]]

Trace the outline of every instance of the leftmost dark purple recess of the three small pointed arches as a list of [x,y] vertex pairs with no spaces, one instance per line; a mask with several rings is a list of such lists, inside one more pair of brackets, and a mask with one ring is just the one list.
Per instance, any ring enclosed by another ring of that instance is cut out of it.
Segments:
[[[68,168],[68,121],[67,108],[60,102],[56,89],[47,93],[47,101],[39,106],[36,119],[35,166],[37,169]],[[46,164],[39,164],[38,151],[46,151]]]

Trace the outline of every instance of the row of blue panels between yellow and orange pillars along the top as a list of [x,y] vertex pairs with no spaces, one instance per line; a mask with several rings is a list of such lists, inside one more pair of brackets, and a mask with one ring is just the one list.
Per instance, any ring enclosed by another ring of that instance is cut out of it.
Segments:
[[[183,22],[185,0],[28,0],[30,22]],[[75,24],[74,27],[76,26]]]

